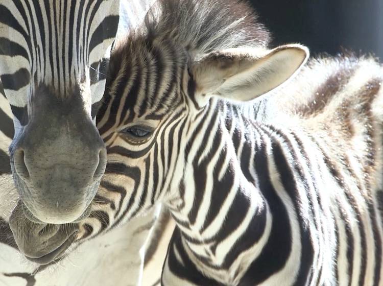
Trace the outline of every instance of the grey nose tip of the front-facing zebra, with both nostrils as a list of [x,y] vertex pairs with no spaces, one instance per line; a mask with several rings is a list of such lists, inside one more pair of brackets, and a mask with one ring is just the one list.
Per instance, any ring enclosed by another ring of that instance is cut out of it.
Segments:
[[86,217],[105,172],[105,147],[65,152],[73,156],[63,152],[56,152],[53,157],[54,152],[37,154],[28,146],[20,146],[13,155],[20,199],[34,218],[30,220],[65,224]]

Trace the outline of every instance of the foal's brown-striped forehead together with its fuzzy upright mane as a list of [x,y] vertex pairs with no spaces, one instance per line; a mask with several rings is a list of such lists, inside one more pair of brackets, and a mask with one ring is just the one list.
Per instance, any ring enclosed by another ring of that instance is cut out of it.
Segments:
[[186,80],[190,62],[268,42],[268,31],[243,2],[159,0],[140,27],[116,42],[108,69],[109,99],[124,101],[123,113],[164,114],[193,98],[193,78]]

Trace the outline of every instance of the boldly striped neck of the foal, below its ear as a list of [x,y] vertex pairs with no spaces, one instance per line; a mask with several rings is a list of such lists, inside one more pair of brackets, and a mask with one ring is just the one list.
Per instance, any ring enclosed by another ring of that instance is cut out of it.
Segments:
[[271,231],[253,164],[261,139],[256,128],[249,130],[252,125],[220,102],[201,115],[189,137],[192,147],[185,148],[178,204],[170,203],[189,259],[229,284],[249,266],[251,259],[243,257],[258,255]]

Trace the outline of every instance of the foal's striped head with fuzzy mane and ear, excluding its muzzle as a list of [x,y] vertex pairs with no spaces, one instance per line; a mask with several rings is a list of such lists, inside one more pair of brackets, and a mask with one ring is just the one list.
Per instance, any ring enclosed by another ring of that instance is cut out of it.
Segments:
[[177,201],[186,177],[200,180],[192,154],[203,157],[194,142],[214,132],[212,102],[253,100],[306,61],[305,47],[269,50],[268,40],[243,3],[161,0],[145,25],[116,43],[98,127],[108,150],[101,187],[123,194],[117,222],[160,199]]

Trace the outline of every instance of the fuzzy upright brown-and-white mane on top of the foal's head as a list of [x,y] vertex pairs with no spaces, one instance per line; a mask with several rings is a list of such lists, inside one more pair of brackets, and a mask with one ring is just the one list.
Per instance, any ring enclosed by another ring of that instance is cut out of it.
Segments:
[[191,55],[270,41],[255,11],[241,0],[158,0],[142,28],[148,39],[172,39]]

